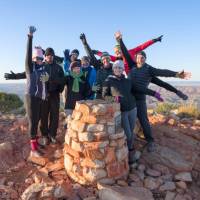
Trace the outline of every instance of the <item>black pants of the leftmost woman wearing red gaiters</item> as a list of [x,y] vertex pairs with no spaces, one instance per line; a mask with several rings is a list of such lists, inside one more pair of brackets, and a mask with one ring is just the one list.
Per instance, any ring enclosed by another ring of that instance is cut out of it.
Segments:
[[25,102],[26,102],[26,113],[29,123],[28,132],[31,139],[36,139],[43,101],[38,97],[26,94]]

